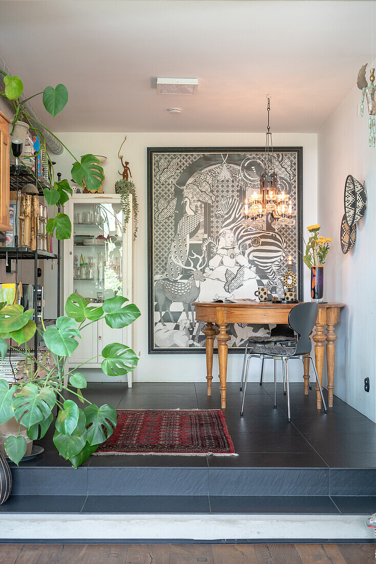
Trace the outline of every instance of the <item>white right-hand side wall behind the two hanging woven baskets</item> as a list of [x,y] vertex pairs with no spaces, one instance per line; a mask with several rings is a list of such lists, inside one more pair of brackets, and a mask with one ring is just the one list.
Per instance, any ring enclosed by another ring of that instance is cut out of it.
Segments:
[[[375,421],[376,148],[368,146],[368,111],[356,117],[360,103],[361,92],[354,86],[319,132],[318,204],[322,234],[334,239],[325,265],[325,299],[347,306],[337,325],[334,393]],[[339,232],[348,174],[365,182],[368,209],[357,224],[355,245],[343,255]],[[366,376],[369,393],[364,391]]]

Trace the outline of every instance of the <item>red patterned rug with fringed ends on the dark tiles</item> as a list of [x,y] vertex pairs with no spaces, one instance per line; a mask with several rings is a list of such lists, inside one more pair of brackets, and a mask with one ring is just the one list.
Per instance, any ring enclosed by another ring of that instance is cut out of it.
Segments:
[[220,409],[117,409],[95,455],[234,455]]

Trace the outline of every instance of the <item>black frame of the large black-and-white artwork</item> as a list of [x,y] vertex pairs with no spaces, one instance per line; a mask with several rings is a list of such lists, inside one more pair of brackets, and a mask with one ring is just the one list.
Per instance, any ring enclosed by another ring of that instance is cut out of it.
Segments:
[[[147,148],[147,206],[148,206],[148,352],[149,354],[205,354],[202,348],[162,348],[154,344],[154,217],[153,217],[153,156],[163,153],[262,153],[264,147],[148,147]],[[273,152],[295,153],[297,157],[297,298],[303,299],[303,147],[274,147]],[[245,347],[229,347],[229,354],[244,353]],[[216,351],[216,349],[214,349]]]

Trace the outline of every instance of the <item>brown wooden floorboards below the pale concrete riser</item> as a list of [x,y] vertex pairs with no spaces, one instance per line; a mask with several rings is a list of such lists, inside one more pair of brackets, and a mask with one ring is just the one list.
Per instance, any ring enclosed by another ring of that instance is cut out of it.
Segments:
[[367,564],[372,544],[0,544],[1,564]]

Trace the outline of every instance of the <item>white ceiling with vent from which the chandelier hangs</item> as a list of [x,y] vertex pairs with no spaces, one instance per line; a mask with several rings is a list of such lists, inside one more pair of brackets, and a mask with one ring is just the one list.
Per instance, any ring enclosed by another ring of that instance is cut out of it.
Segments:
[[[55,131],[315,132],[371,61],[374,2],[0,1],[27,95],[62,82]],[[375,42],[376,43],[376,40]],[[155,79],[197,77],[193,96]],[[166,108],[182,108],[181,114]],[[355,109],[354,109],[355,111]]]

